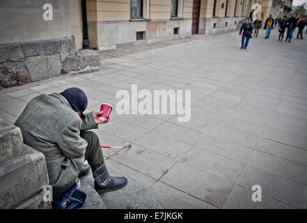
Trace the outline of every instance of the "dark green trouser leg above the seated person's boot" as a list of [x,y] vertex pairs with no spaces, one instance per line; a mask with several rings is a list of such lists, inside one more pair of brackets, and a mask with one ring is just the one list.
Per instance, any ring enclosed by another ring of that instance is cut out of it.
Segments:
[[85,160],[88,161],[88,164],[90,164],[90,166],[102,164],[102,162],[104,162],[104,155],[102,154],[97,134],[91,131],[81,132],[80,137],[88,142],[85,154]]

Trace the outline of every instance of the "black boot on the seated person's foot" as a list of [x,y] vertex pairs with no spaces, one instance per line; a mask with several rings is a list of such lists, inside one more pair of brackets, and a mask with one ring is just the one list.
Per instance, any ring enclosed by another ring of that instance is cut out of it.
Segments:
[[95,180],[95,190],[98,194],[119,190],[127,185],[125,177],[110,176],[104,162],[101,165],[91,166]]

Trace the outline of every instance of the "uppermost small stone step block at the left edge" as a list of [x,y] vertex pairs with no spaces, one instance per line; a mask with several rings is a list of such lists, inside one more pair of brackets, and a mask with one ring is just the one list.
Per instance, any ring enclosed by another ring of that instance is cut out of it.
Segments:
[[23,146],[22,131],[0,118],[0,166],[22,155]]

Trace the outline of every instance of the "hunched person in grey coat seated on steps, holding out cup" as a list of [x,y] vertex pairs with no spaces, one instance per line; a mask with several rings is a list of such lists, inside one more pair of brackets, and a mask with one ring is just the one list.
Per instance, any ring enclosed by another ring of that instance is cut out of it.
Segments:
[[87,105],[84,91],[77,88],[42,94],[26,105],[15,123],[22,130],[24,144],[44,153],[54,201],[74,185],[78,176],[90,171],[89,167],[81,171],[84,160],[93,171],[98,193],[127,185],[127,178],[109,176],[97,135],[86,132],[109,121],[100,121],[102,112],[83,114]]

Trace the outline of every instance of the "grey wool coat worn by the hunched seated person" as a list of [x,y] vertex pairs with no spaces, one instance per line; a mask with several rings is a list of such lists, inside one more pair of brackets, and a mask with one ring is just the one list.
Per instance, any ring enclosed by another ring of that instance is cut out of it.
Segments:
[[30,100],[15,122],[24,144],[45,155],[49,184],[54,196],[68,190],[84,164],[87,142],[80,131],[98,128],[92,113],[82,121],[59,93],[42,94]]

